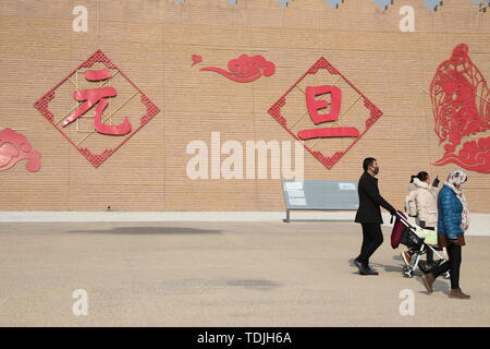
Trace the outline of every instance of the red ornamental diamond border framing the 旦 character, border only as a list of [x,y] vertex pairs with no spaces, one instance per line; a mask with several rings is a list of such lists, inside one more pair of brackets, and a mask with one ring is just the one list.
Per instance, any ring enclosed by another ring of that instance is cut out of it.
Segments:
[[[331,157],[324,156],[320,151],[310,149],[305,142],[303,142],[295,133],[287,129],[286,119],[281,115],[282,107],[286,104],[286,95],[299,84],[302,80],[308,74],[316,74],[318,70],[324,69],[332,75],[341,76],[355,92],[357,92],[364,99],[364,106],[370,111],[370,117],[366,120],[366,129],[353,141],[353,143],[342,152],[335,152]],[[320,57],[307,71],[304,73],[291,87],[287,89],[268,110],[272,116],[296,141],[301,142],[303,146],[317,158],[327,169],[331,169],[353,146],[359,141],[363,135],[371,128],[371,125],[378,121],[383,112],[375,106],[356,86],[354,86],[348,79],[346,79],[341,72],[339,72],[324,57]]]

